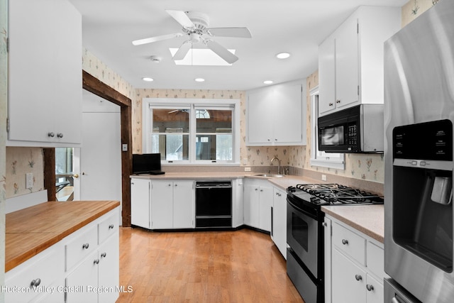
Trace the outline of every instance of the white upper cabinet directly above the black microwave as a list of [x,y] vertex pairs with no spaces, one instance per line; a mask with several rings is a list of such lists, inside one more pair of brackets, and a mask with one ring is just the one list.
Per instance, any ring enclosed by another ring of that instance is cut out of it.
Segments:
[[319,46],[319,115],[384,100],[383,43],[401,28],[398,7],[360,6]]

